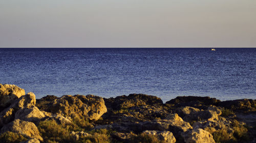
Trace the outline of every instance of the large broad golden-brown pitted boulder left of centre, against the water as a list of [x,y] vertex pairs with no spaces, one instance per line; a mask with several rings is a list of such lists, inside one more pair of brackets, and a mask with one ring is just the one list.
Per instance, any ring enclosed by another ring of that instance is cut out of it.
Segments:
[[[42,102],[44,99],[40,99]],[[44,107],[45,111],[52,113],[60,113],[64,117],[84,117],[89,120],[98,120],[103,113],[106,112],[104,100],[101,97],[94,95],[65,95],[54,99],[48,108],[42,104],[37,104],[38,108]]]

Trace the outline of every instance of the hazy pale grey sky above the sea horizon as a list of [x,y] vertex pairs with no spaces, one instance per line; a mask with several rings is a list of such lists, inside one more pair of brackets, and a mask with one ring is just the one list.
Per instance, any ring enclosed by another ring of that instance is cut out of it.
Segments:
[[256,47],[256,1],[0,0],[0,47]]

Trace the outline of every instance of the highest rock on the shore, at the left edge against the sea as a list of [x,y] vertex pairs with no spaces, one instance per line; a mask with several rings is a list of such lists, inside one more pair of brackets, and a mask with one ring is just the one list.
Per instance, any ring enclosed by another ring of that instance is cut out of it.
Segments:
[[14,100],[25,95],[25,90],[12,84],[0,84],[0,107],[9,106]]

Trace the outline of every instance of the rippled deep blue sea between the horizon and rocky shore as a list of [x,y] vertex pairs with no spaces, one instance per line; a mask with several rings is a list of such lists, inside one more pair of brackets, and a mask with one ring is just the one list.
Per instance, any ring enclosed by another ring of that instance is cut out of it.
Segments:
[[256,99],[256,48],[0,48],[0,83],[46,95]]

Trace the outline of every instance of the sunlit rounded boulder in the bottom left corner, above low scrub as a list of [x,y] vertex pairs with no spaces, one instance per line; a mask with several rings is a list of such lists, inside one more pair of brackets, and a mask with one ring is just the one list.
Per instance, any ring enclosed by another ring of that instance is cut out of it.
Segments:
[[1,133],[4,133],[6,131],[20,133],[29,138],[37,138],[40,141],[43,140],[42,137],[40,136],[40,133],[39,133],[37,127],[32,122],[27,122],[27,121],[22,121],[22,120],[16,119],[13,122],[5,125],[1,129]]

